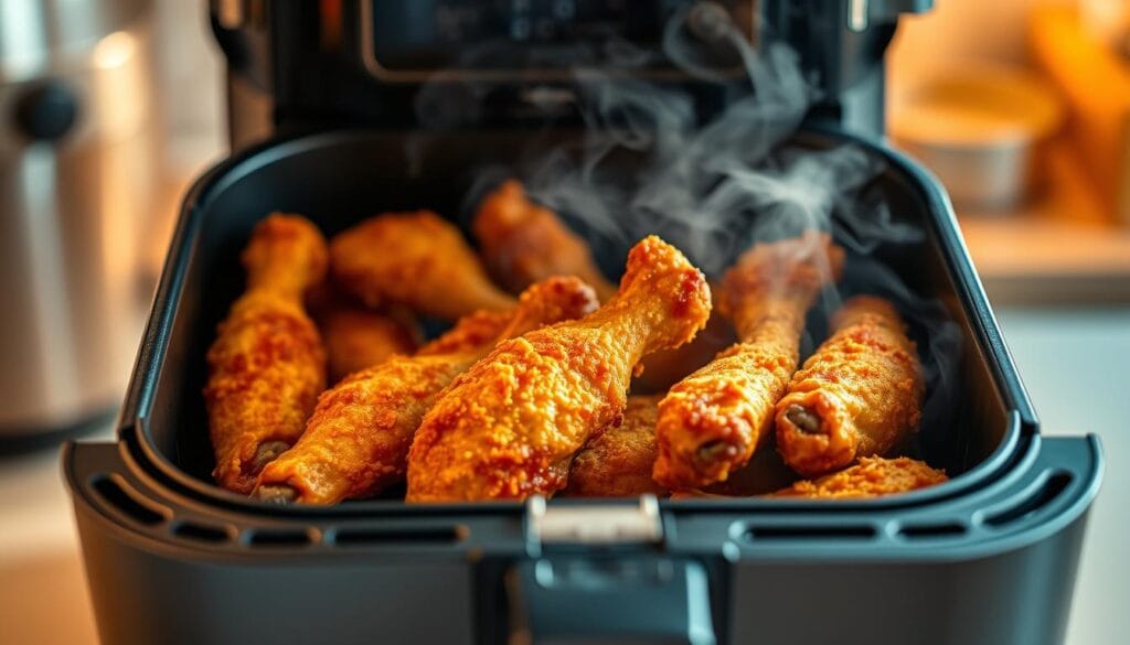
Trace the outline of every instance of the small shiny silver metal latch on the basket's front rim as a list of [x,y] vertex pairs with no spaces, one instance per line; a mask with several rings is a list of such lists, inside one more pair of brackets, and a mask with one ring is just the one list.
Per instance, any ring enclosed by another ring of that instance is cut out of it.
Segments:
[[629,544],[663,541],[659,500],[643,495],[640,504],[560,505],[540,495],[525,504],[528,537],[534,544]]

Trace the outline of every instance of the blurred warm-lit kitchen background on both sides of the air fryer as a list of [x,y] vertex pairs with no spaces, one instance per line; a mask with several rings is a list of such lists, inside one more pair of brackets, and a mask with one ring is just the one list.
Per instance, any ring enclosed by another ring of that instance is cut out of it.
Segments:
[[[226,150],[205,5],[0,0],[2,643],[95,643],[58,446],[111,433],[177,202]],[[1044,432],[1103,438],[1069,643],[1123,643],[1130,0],[936,5],[890,50],[888,131],[950,190]]]

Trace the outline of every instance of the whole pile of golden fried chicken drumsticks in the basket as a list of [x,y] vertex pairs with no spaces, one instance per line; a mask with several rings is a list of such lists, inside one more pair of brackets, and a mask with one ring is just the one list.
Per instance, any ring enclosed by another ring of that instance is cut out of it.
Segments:
[[[945,481],[889,457],[923,394],[890,303],[845,302],[798,369],[807,312],[843,263],[826,234],[754,245],[712,298],[654,236],[607,282],[515,181],[484,200],[473,233],[481,260],[428,211],[329,243],[298,216],[261,221],[247,289],[208,352],[216,481],[307,504],[402,486],[408,502],[463,502],[870,497]],[[453,326],[421,345],[417,315]],[[711,358],[727,323],[737,342]],[[629,395],[644,386],[661,393]]]

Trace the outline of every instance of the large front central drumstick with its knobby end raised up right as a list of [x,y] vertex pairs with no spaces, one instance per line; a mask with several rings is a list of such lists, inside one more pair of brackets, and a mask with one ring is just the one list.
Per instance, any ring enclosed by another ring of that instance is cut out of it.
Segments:
[[640,242],[608,304],[499,343],[438,398],[409,454],[408,500],[562,489],[573,455],[624,411],[640,359],[694,338],[710,308],[706,279],[678,250]]

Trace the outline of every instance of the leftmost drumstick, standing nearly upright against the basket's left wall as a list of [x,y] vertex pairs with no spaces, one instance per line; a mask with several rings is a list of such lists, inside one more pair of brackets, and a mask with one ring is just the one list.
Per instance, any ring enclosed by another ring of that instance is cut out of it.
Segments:
[[271,215],[252,233],[243,265],[247,290],[208,350],[203,393],[212,477],[246,494],[263,464],[302,435],[325,389],[325,351],[302,304],[325,274],[325,239],[302,217]]

